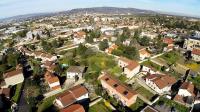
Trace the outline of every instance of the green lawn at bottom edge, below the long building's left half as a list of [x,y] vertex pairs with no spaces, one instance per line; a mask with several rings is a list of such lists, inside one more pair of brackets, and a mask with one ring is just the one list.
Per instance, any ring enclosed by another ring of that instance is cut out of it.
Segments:
[[89,112],[112,112],[112,110],[106,107],[103,101],[100,101],[97,104],[91,106],[89,108]]

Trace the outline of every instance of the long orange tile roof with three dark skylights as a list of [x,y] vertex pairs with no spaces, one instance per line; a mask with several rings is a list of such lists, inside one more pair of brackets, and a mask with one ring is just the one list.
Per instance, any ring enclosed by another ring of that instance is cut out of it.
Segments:
[[[117,79],[115,79],[114,77],[111,77],[108,74],[104,74],[104,75],[100,76],[99,79],[106,82],[108,85],[110,85],[112,88],[114,88],[119,94],[121,94],[122,96],[124,96],[127,99],[130,99],[133,96],[137,95],[137,93],[135,91],[131,90],[130,88],[128,88],[127,86],[125,86],[124,84],[119,82]],[[107,79],[109,79],[109,80],[107,80]],[[114,87],[115,84],[117,84],[118,86]],[[125,91],[128,92],[126,95],[124,95]]]

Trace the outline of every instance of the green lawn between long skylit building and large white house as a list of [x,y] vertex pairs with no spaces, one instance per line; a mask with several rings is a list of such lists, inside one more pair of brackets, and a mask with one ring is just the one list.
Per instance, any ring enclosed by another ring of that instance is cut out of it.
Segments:
[[147,98],[148,100],[151,100],[151,98],[154,96],[153,93],[145,89],[144,87],[140,86],[136,88],[136,91],[141,94],[143,97]]

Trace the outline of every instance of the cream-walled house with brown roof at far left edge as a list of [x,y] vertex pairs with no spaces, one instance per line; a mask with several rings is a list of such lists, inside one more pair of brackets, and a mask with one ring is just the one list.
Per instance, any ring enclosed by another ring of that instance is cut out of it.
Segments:
[[13,86],[24,81],[23,69],[20,65],[17,65],[15,70],[6,72],[3,74],[4,85],[2,88]]

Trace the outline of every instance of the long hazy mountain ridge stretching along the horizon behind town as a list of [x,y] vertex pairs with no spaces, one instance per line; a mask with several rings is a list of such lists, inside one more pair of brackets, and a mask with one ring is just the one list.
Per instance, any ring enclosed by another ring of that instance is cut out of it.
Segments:
[[[19,15],[9,18],[0,19],[1,23],[9,23],[12,21],[23,21],[27,19],[37,19],[42,17],[48,16],[55,16],[55,15],[70,15],[70,14],[166,14],[166,15],[176,15],[172,13],[164,13],[164,12],[157,12],[151,10],[143,10],[143,9],[136,9],[136,8],[118,8],[118,7],[93,7],[93,8],[77,8],[68,11],[62,12],[55,12],[55,13],[36,13],[36,14],[27,14],[27,15]],[[179,15],[179,14],[177,14]],[[181,15],[184,16],[184,15]]]

